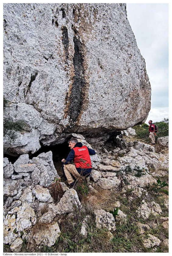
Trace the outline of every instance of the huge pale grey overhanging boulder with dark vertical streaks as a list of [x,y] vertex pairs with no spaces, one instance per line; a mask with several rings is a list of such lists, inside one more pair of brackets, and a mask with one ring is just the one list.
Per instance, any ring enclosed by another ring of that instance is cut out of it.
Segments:
[[4,146],[17,154],[144,122],[151,88],[126,4],[5,3],[4,95],[8,117],[26,121]]

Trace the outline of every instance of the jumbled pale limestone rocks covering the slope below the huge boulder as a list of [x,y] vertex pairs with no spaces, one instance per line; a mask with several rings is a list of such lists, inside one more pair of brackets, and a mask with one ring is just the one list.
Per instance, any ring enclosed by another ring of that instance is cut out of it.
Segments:
[[[88,236],[91,218],[97,230],[106,229],[108,241],[113,241],[118,227],[128,223],[132,213],[135,216],[132,225],[136,225],[143,247],[141,252],[168,251],[168,195],[160,191],[162,196],[158,201],[156,199],[160,195],[154,197],[156,190],[150,190],[157,184],[158,178],[168,180],[168,148],[163,146],[160,152],[158,146],[135,140],[132,128],[123,134],[124,138],[117,136],[118,143],[111,151],[104,148],[106,153],[91,156],[93,170],[91,176],[86,178],[88,193],[85,201],[79,199],[75,190],[77,185],[69,189],[64,182],[60,182],[61,170],[54,168],[51,151],[32,159],[28,154],[21,155],[14,164],[4,158],[4,244],[10,246],[9,250],[21,252],[23,243],[28,243],[33,252],[43,252],[43,246],[54,246],[61,236],[61,223],[69,219],[73,228],[77,228],[74,216],[86,213],[87,202],[87,207],[90,205],[93,209],[93,215],[90,217],[87,214],[82,219],[79,232],[83,238]],[[82,135],[75,134],[75,137],[91,147]],[[163,141],[167,145],[166,137],[160,139],[160,145]],[[62,193],[58,191],[58,200],[52,194],[54,178],[61,184]],[[165,188],[168,189],[167,186]],[[98,205],[100,191],[103,191],[102,195],[116,193],[113,204],[109,203],[105,208]],[[123,207],[124,201],[127,208]],[[114,217],[109,210],[113,212],[117,207],[118,215]],[[161,232],[154,232],[159,227]],[[162,230],[165,233],[162,234]],[[135,252],[140,252],[139,246]]]

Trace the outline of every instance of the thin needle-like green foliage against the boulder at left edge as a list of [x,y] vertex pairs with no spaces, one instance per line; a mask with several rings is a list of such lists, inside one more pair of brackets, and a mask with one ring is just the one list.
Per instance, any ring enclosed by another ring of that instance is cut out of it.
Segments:
[[[10,102],[3,98],[3,110],[6,112],[6,108]],[[18,132],[22,132],[25,127],[24,120],[18,120],[16,122],[10,121],[8,118],[3,119],[3,136],[8,142],[15,142],[18,137]]]

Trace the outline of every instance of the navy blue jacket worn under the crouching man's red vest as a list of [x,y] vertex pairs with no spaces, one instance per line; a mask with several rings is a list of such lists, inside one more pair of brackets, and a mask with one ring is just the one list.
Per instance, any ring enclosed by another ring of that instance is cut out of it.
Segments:
[[[82,147],[82,143],[81,142],[76,143],[75,147]],[[89,147],[87,147],[87,148],[88,148],[88,152],[89,152],[90,155],[95,155],[96,154],[95,150],[93,150]],[[74,159],[74,157],[75,157],[75,151],[73,149],[71,149],[71,151],[69,152],[64,164],[67,165],[67,164],[71,163],[72,160]],[[77,169],[79,174],[82,171],[82,176],[90,176],[90,173],[91,173],[91,170],[92,170],[92,168],[87,168],[87,169],[76,168],[76,169]]]

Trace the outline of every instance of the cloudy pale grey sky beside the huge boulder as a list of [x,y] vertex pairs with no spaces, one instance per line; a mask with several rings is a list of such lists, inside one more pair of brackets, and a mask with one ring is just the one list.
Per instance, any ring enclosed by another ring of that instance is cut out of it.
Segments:
[[127,18],[137,46],[146,61],[152,89],[151,109],[146,120],[168,117],[168,4],[127,3]]

